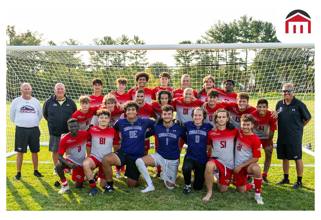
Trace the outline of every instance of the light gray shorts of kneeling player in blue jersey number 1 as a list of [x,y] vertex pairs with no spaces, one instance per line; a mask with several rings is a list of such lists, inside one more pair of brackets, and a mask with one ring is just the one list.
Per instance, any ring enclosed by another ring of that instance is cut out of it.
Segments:
[[163,173],[161,175],[161,179],[175,184],[179,160],[165,159],[157,152],[149,155],[154,158],[155,166],[160,166],[162,168]]

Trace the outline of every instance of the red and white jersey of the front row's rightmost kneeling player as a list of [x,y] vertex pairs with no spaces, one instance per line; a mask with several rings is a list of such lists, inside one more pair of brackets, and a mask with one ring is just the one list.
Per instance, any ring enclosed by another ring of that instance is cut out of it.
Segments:
[[244,135],[244,132],[239,130],[235,144],[234,167],[254,157],[261,157],[260,139],[255,134]]

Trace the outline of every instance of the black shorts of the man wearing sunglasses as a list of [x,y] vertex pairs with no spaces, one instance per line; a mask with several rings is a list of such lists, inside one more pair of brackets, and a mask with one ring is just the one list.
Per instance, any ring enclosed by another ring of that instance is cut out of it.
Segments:
[[278,159],[300,160],[302,159],[302,144],[276,143],[276,155]]

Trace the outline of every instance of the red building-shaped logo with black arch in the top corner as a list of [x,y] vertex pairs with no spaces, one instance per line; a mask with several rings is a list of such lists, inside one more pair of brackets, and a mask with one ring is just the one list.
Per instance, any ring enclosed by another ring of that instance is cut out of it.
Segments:
[[307,12],[294,10],[285,19],[286,34],[311,34],[311,18]]

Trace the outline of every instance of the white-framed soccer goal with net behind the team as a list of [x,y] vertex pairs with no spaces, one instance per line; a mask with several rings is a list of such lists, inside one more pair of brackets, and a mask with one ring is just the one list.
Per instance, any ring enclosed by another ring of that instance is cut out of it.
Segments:
[[[163,53],[167,50],[166,53]],[[157,62],[150,63],[151,56]],[[169,54],[165,55],[164,54]],[[169,72],[170,86],[180,88],[183,74],[191,77],[194,90],[203,88],[203,78],[212,75],[215,86],[233,79],[234,91],[250,94],[250,104],[265,98],[269,109],[282,99],[282,85],[290,82],[295,96],[303,101],[312,120],[304,127],[302,147],[314,153],[314,44],[246,43],[246,44],[179,44],[179,45],[89,45],[89,46],[7,46],[7,155],[14,151],[15,126],[9,119],[14,98],[21,95],[20,86],[30,83],[32,96],[41,105],[52,94],[57,82],[66,87],[66,95],[80,108],[80,95],[93,93],[91,80],[101,78],[102,94],[117,90],[116,79],[126,77],[125,92],[136,85],[139,71],[150,74],[149,88],[160,86],[159,74]],[[47,121],[40,122],[41,145],[48,145]],[[276,143],[277,132],[273,142]],[[152,143],[152,141],[151,141]]]

